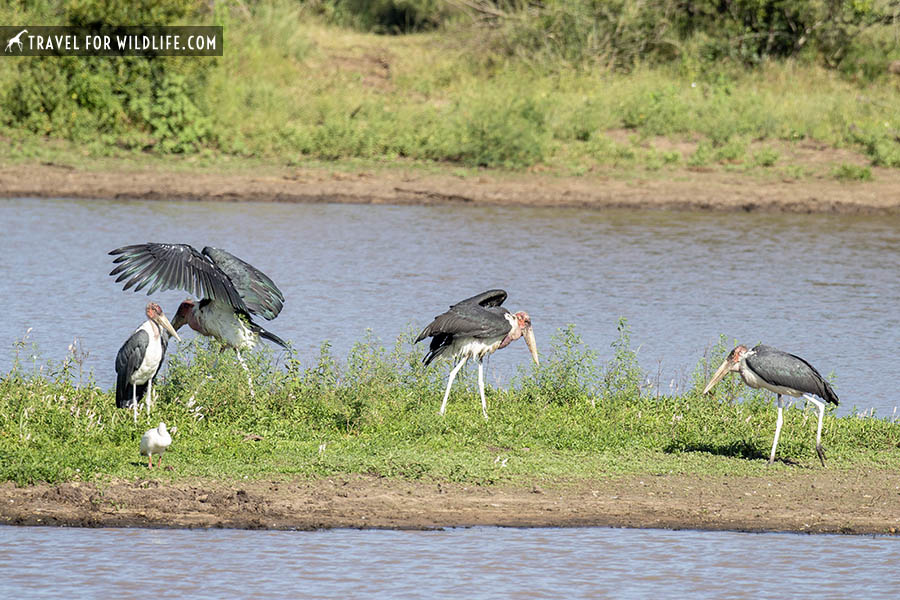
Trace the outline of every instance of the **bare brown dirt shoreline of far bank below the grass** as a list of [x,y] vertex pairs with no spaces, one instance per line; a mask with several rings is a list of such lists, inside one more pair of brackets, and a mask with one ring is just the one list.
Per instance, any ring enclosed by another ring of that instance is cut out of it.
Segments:
[[625,180],[590,174],[457,177],[415,170],[331,172],[288,167],[222,173],[6,164],[0,166],[0,197],[900,213],[900,171],[873,172],[873,181],[842,183],[827,177],[793,181],[687,169]]

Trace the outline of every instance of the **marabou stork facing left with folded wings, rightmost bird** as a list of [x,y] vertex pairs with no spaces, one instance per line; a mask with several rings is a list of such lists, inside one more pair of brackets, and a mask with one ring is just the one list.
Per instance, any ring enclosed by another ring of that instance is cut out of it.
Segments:
[[720,379],[728,373],[737,371],[741,374],[744,383],[752,388],[764,388],[775,392],[778,401],[778,418],[775,420],[775,440],[772,442],[772,453],[769,455],[769,464],[775,462],[775,448],[778,447],[778,436],[781,434],[781,424],[784,422],[782,411],[784,404],[781,396],[794,396],[812,402],[819,409],[819,425],[816,429],[816,454],[825,466],[825,451],[822,449],[822,417],[825,416],[825,402],[813,398],[815,394],[832,404],[838,403],[837,394],[819,372],[811,364],[793,354],[782,352],[764,346],[754,346],[747,350],[746,346],[738,346],[725,358],[725,362],[719,367],[703,393],[709,392]]

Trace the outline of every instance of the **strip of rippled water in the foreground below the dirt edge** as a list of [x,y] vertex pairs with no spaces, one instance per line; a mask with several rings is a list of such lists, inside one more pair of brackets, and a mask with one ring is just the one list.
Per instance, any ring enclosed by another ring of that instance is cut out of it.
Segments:
[[0,528],[4,598],[897,598],[889,538]]

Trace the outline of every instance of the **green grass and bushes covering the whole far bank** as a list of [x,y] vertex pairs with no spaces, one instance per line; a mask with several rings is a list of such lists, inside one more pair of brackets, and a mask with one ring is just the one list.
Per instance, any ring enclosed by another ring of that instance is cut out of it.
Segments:
[[[19,0],[4,22],[215,23],[226,51],[4,59],[0,134],[11,158],[47,136],[94,156],[862,180],[900,166],[898,15],[895,0]],[[807,172],[803,144],[864,159]]]

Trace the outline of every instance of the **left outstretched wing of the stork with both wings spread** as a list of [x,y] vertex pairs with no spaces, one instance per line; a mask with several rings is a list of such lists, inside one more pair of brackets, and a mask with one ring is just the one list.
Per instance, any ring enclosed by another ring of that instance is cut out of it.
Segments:
[[149,286],[147,294],[152,294],[180,289],[197,298],[227,302],[236,310],[248,312],[228,275],[188,244],[135,244],[116,248],[109,254],[116,256],[116,268],[109,274],[117,276],[116,283],[124,281],[126,290],[134,287],[139,292]]

